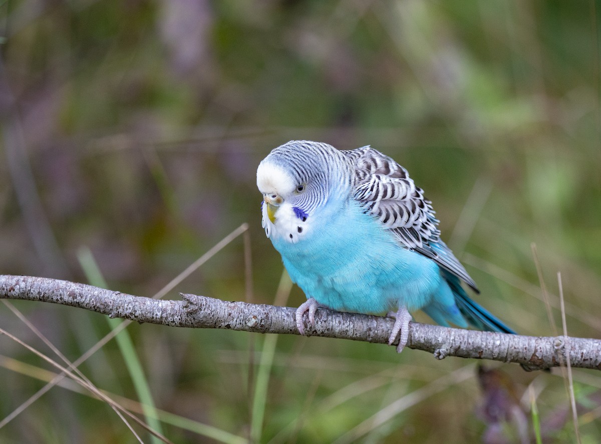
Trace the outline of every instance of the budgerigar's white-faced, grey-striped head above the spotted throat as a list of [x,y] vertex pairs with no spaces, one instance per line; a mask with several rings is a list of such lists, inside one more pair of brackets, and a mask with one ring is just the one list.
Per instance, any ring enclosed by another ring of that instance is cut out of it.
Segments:
[[340,152],[325,143],[294,140],[273,149],[257,169],[257,187],[269,220],[275,223],[285,203],[304,214],[325,205],[341,176],[340,159]]

